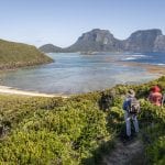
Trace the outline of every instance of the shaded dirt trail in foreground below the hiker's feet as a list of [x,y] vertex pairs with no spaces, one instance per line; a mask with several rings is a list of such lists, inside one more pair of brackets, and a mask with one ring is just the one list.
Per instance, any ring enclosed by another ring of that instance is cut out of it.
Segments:
[[144,165],[144,146],[136,139],[128,143],[117,140],[114,150],[103,157],[102,165]]

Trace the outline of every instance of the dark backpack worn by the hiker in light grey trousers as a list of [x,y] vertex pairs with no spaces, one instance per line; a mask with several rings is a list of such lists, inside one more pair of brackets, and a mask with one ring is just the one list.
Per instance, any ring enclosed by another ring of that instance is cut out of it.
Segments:
[[141,110],[139,100],[136,98],[131,98],[128,101],[127,110],[131,114],[138,114],[140,112],[140,110]]

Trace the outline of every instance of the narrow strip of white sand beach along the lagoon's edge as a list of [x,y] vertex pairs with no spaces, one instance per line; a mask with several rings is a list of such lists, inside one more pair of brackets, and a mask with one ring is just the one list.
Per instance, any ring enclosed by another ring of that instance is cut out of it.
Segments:
[[34,92],[34,91],[24,91],[20,89],[14,89],[7,86],[0,86],[0,94],[7,94],[7,95],[23,95],[23,96],[33,96],[33,97],[63,97],[67,98],[67,96],[63,95],[50,95],[50,94],[41,94],[41,92]]

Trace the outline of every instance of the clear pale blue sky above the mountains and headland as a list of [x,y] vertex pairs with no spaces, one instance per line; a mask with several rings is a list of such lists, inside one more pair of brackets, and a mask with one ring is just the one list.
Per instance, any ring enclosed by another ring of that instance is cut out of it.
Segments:
[[67,47],[92,29],[123,40],[136,30],[165,34],[165,0],[0,0],[0,38]]

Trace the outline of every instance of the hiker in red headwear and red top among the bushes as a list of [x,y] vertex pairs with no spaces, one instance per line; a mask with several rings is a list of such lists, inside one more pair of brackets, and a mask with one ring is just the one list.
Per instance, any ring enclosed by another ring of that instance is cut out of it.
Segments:
[[150,95],[147,97],[148,101],[155,106],[162,106],[162,94],[158,86],[153,86],[151,88]]

